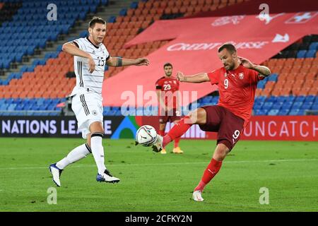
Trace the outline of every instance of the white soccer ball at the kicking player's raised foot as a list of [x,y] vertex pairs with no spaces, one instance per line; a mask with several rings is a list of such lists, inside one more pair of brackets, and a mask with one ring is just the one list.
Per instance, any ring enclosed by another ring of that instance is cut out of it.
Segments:
[[141,126],[136,132],[136,144],[141,144],[143,146],[151,146],[155,141],[157,141],[157,131],[153,126],[144,125]]

